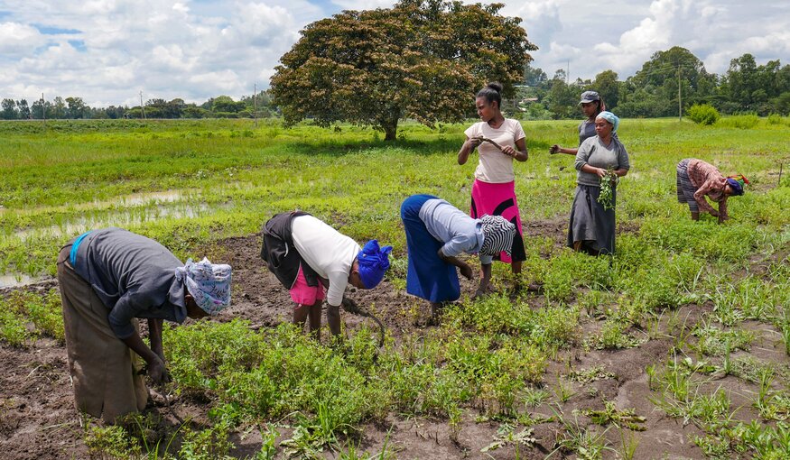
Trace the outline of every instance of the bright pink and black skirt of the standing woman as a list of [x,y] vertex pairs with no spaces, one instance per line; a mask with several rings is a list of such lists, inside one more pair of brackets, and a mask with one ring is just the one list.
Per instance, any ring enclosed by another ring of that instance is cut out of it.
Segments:
[[505,263],[525,261],[524,235],[521,229],[521,213],[518,211],[516,201],[515,181],[492,184],[475,179],[472,185],[472,206],[469,216],[479,219],[486,214],[503,216],[516,225],[516,236],[513,238],[513,248],[510,250],[512,257],[508,257],[507,253],[499,253],[494,260]]

